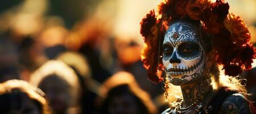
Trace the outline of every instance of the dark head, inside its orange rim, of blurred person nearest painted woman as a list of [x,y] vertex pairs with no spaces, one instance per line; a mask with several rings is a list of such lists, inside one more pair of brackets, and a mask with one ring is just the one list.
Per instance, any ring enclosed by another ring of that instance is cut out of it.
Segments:
[[109,114],[149,113],[142,101],[134,95],[127,84],[112,88],[105,99],[106,107],[102,112]]

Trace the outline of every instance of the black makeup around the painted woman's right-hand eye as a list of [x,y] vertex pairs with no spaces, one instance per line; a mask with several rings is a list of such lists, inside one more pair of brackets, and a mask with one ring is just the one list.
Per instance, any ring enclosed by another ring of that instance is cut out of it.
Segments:
[[184,42],[178,46],[178,54],[181,57],[192,57],[200,53],[200,46],[196,42]]

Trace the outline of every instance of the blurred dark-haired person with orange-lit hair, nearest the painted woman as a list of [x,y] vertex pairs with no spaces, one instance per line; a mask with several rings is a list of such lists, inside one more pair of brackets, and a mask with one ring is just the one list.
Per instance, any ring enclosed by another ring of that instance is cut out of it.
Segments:
[[100,88],[103,100],[100,113],[105,114],[154,114],[157,109],[147,92],[141,89],[132,74],[117,72]]

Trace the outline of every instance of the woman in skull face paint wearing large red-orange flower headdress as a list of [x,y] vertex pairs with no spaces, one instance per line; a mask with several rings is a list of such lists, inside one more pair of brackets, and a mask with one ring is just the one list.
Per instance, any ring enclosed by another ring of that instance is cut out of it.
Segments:
[[163,113],[254,113],[240,74],[251,68],[256,51],[229,4],[166,0],[157,14],[152,10],[141,22],[141,59],[149,79],[164,80],[166,101],[170,84],[182,92]]

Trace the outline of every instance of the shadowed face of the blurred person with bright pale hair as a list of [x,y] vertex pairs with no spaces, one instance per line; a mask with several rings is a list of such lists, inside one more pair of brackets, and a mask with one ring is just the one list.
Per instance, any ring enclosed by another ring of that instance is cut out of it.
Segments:
[[65,80],[58,76],[48,76],[40,82],[38,87],[46,93],[46,99],[55,113],[65,113],[70,107],[71,87]]

